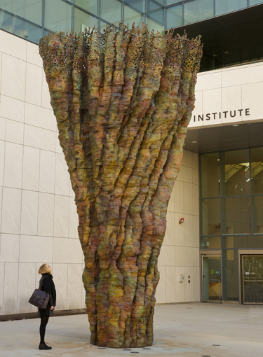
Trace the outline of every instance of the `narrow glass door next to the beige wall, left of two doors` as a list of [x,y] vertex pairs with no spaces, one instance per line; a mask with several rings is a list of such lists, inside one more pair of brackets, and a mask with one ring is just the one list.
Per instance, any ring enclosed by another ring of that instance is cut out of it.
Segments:
[[203,302],[221,302],[221,255],[202,255]]

